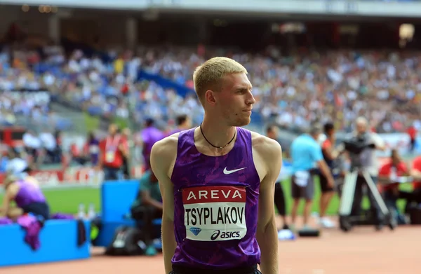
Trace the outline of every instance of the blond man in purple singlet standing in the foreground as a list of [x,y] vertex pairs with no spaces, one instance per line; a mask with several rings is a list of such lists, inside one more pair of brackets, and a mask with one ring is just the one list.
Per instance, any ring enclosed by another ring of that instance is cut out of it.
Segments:
[[278,274],[281,146],[240,128],[255,103],[241,64],[215,57],[193,78],[203,123],[156,142],[151,154],[163,198],[166,274],[260,273],[258,264]]

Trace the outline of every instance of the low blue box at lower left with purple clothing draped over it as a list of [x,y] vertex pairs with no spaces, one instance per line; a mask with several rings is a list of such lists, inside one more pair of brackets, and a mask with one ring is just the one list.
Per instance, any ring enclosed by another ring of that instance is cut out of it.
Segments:
[[[86,241],[78,246],[75,220],[49,220],[39,233],[41,246],[32,250],[25,242],[26,231],[18,224],[0,226],[0,268],[32,263],[88,259],[90,224],[85,221]],[[1,272],[1,271],[0,271]]]

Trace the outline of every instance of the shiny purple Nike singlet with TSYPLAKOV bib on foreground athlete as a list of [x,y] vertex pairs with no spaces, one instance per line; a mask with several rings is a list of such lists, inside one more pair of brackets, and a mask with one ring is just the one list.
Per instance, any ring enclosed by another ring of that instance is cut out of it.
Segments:
[[171,181],[173,265],[220,270],[260,263],[255,239],[260,178],[248,130],[237,128],[234,148],[225,156],[200,153],[194,128],[180,132]]

